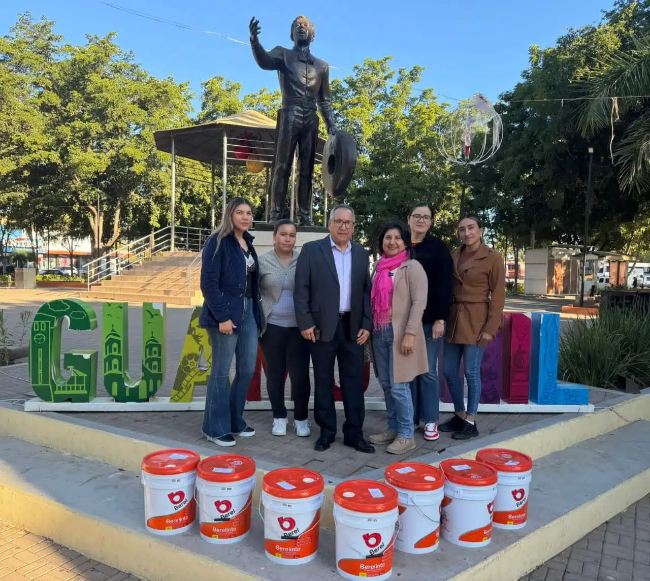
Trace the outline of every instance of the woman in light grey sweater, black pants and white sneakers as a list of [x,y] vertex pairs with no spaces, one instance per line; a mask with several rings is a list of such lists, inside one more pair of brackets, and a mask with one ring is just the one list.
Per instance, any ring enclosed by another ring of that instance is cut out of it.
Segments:
[[294,276],[298,251],[296,225],[278,220],[273,229],[274,249],[259,257],[259,291],[266,326],[261,345],[266,359],[266,391],[273,409],[273,435],[287,434],[285,380],[287,368],[294,402],[294,428],[302,437],[311,433],[307,420],[309,383],[309,342],[300,335],[293,306]]

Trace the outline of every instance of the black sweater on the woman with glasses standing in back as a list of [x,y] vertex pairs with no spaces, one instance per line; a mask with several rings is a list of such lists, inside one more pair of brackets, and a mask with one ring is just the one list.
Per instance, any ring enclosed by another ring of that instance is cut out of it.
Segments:
[[429,283],[426,309],[422,322],[432,324],[437,320],[446,321],[452,304],[452,277],[454,261],[447,245],[430,234],[413,246],[415,259],[422,265]]

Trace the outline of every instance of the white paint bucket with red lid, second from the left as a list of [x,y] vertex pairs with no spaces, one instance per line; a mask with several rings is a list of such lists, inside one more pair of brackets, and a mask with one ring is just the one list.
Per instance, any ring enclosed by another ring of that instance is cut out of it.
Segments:
[[252,458],[222,454],[201,460],[196,468],[201,538],[215,545],[244,539],[250,531],[254,489]]

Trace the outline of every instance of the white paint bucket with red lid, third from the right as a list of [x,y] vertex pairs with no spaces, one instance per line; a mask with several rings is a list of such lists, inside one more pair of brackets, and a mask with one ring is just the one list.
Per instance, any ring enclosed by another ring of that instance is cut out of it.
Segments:
[[440,540],[443,471],[421,462],[398,462],[387,467],[384,479],[400,498],[395,549],[410,554],[433,552]]

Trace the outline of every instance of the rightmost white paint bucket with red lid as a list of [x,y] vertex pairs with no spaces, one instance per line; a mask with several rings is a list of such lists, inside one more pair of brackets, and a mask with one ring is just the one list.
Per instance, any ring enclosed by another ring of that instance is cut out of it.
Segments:
[[532,458],[515,450],[485,448],[479,450],[476,460],[493,467],[499,476],[492,524],[506,530],[524,528],[528,520]]

